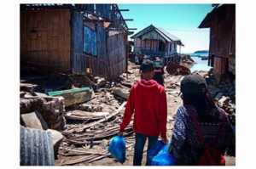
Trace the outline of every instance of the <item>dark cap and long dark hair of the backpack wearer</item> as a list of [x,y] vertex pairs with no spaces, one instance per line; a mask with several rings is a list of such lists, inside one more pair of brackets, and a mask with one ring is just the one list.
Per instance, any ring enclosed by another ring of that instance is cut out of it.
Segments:
[[213,120],[218,118],[219,110],[212,99],[211,93],[207,92],[207,82],[199,75],[190,75],[181,82],[183,104],[194,105],[201,119]]

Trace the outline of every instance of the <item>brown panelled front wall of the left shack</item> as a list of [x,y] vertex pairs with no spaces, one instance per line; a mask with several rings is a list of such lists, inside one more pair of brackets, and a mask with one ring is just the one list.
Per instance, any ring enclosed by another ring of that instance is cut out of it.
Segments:
[[20,60],[70,70],[69,9],[20,12]]

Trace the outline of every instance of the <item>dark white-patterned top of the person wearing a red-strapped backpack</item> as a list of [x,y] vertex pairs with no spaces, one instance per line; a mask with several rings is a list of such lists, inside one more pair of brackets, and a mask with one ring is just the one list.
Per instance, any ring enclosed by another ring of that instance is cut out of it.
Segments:
[[[196,119],[201,127],[201,132],[206,140],[206,143],[212,144],[214,138],[216,138],[218,131],[224,121],[224,115],[222,110],[218,120],[216,121],[201,121],[195,110],[195,106],[189,105],[195,112]],[[177,110],[176,121],[173,127],[172,139],[171,139],[172,153],[177,160],[177,166],[195,166],[199,164],[201,154],[204,151],[204,147],[201,144],[198,132],[189,115],[189,111],[181,106]],[[220,151],[222,155],[227,148],[233,148],[235,146],[235,133],[233,127],[230,124],[228,118],[226,118],[224,131],[218,139],[216,149]]]

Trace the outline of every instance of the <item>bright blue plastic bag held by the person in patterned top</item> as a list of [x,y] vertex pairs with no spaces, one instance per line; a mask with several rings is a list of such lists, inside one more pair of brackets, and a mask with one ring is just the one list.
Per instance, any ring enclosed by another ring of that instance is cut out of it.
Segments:
[[175,166],[176,161],[172,153],[168,152],[170,144],[166,144],[159,154],[152,159],[151,166]]

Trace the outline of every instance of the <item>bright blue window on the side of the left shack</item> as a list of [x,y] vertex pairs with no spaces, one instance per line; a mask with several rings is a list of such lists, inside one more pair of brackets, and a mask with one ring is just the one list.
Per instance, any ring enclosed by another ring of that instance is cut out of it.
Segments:
[[84,26],[84,53],[96,55],[96,32]]

